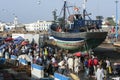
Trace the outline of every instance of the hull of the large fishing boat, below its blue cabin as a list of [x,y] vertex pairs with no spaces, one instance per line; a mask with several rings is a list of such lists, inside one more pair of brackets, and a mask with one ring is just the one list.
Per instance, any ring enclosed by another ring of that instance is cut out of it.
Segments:
[[[56,32],[53,30],[51,31],[51,34],[55,38],[56,45],[58,47],[65,49],[77,49],[82,47],[83,43],[87,43],[86,45],[87,49],[93,49],[99,46],[107,36],[107,32],[78,32],[78,33],[65,32],[64,33],[64,32]],[[72,41],[73,39],[80,42],[74,43],[74,41]],[[83,42],[81,42],[82,40]],[[71,46],[71,44],[74,44],[74,46]]]

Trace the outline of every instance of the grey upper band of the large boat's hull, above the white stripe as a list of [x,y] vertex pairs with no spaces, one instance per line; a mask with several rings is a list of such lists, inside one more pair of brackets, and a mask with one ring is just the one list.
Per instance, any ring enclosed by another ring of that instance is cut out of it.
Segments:
[[57,32],[51,30],[51,34],[54,37],[61,38],[106,38],[107,32],[78,32],[78,33],[69,33],[69,32]]

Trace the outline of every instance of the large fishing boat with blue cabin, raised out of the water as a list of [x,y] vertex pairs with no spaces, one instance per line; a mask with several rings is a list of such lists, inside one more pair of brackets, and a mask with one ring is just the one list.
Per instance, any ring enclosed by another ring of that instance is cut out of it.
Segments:
[[82,14],[73,14],[66,19],[66,8],[68,7],[65,0],[62,20],[53,22],[50,28],[58,47],[74,50],[86,45],[87,49],[93,49],[105,40],[107,32],[101,30],[101,19],[92,20],[86,8],[83,9]]

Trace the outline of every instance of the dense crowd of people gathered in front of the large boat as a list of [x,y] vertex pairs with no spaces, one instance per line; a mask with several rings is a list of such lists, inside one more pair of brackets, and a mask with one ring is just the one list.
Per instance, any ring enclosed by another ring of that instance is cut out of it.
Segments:
[[[21,44],[26,41],[25,44]],[[61,73],[68,76],[69,73],[80,75],[84,71],[84,76],[87,78],[95,77],[97,80],[105,80],[109,74],[112,74],[111,62],[108,58],[98,59],[93,54],[85,54],[75,56],[68,50],[57,49],[44,45],[40,47],[37,43],[30,43],[28,40],[22,40],[19,44],[14,44],[14,41],[3,41],[4,46],[0,54],[6,59],[10,59],[11,55],[19,57],[20,55],[27,55],[30,60],[29,63],[38,64],[44,67],[46,76],[53,75],[54,72]],[[82,53],[82,52],[81,52]]]

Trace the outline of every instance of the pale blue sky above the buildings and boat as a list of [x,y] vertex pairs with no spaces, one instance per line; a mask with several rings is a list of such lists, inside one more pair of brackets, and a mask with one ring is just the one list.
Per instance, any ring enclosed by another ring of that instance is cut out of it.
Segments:
[[[118,0],[119,1],[119,0]],[[83,0],[67,0],[69,6],[78,6],[82,12]],[[53,10],[60,14],[64,0],[0,0],[0,21],[13,22],[17,16],[20,23],[31,23],[37,20],[53,20]],[[120,1],[118,2],[118,19],[120,19]],[[116,16],[115,0],[87,0],[86,10],[95,18]],[[71,14],[73,11],[71,11]]]

